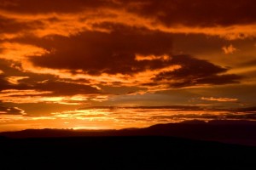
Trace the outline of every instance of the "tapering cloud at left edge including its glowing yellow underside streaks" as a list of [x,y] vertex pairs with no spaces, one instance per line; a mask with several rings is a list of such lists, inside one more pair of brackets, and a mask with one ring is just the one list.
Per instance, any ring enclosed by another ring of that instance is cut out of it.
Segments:
[[0,101],[4,103],[79,105],[102,94],[101,88],[92,87],[85,80],[67,81],[52,75],[12,71],[7,69],[0,75]]

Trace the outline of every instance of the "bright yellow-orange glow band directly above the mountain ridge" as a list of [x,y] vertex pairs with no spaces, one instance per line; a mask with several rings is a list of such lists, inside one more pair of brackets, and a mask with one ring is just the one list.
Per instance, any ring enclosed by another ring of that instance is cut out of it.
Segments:
[[254,111],[200,111],[168,107],[105,107],[62,111],[49,116],[2,116],[0,132],[24,129],[122,129],[149,127],[159,123],[192,120],[247,120],[256,121]]

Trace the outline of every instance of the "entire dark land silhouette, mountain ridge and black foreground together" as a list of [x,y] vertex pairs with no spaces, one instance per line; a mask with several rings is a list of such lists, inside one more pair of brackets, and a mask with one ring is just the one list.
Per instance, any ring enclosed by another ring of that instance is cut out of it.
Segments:
[[[121,131],[46,129],[0,133],[0,169],[255,169],[255,127],[244,123],[239,122],[236,128],[233,122],[214,122],[216,127],[189,122],[179,128],[169,124]],[[184,135],[185,131],[188,138],[169,135]],[[209,141],[209,132],[212,139],[230,138],[233,144]],[[202,139],[195,139],[200,136]],[[248,144],[234,144],[244,141],[241,139],[250,140]]]

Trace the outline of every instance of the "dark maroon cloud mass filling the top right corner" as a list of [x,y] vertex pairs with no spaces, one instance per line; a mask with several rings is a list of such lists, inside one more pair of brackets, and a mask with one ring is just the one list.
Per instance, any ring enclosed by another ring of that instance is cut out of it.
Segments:
[[131,12],[152,17],[167,26],[232,26],[254,24],[256,19],[253,0],[130,0],[125,3],[130,3],[127,6]]

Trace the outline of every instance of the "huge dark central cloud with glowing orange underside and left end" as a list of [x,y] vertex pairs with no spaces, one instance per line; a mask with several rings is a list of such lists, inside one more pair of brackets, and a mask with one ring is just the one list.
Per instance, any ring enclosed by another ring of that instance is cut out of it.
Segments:
[[[170,88],[224,85],[241,80],[235,74],[225,74],[228,68],[208,60],[172,54],[172,34],[109,23],[104,26],[112,27],[113,31],[84,31],[70,37],[21,38],[19,43],[4,43],[6,48],[0,56],[12,59],[7,57],[16,53],[8,48],[12,45],[15,50],[17,48],[19,57],[14,59],[21,63],[20,71],[86,82],[84,85],[75,85],[73,81],[46,82],[30,88],[53,88],[56,95],[84,94],[85,91],[99,93],[91,88],[99,84],[137,86],[155,92]],[[29,43],[34,45],[27,45]],[[30,50],[26,50],[27,47]],[[58,86],[66,88],[55,88]],[[74,86],[77,90],[73,91]],[[79,93],[82,88],[84,92]]]

